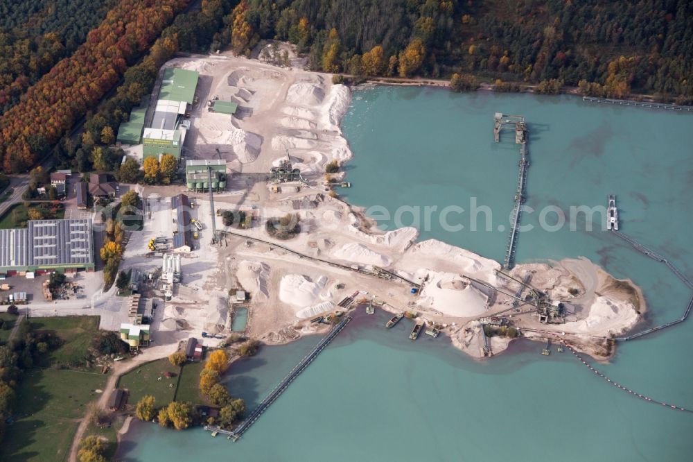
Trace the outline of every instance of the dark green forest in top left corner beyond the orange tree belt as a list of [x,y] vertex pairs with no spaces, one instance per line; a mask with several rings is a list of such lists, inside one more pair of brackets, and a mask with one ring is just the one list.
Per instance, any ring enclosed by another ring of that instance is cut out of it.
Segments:
[[0,3],[0,114],[98,26],[116,0]]

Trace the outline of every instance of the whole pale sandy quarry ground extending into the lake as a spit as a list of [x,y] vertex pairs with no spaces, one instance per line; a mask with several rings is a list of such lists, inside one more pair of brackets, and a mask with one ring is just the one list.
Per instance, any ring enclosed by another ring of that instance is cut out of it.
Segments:
[[[352,156],[339,125],[351,101],[348,87],[333,85],[327,74],[231,55],[178,58],[166,66],[200,72],[198,103],[186,138],[194,153],[188,157],[224,158],[230,173],[263,173],[289,159],[306,182],[272,189],[264,179],[230,176],[229,190],[215,196],[216,207],[245,209],[255,219],[248,229],[226,229],[265,242],[227,235],[221,246],[211,246],[211,234],[203,231],[200,249],[184,264],[184,273],[192,271],[194,277],[184,274],[173,300],[179,309],[165,311],[164,325],[175,332],[225,332],[229,318],[223,311],[234,304],[226,294],[243,289],[249,293],[247,334],[285,343],[324,331],[325,325],[310,319],[334,311],[340,300],[358,292],[358,300],[376,298],[388,311],[417,311],[421,320],[440,325],[457,348],[479,356],[480,320],[507,310],[512,302],[484,284],[509,293],[518,285],[499,277],[498,262],[441,241],[417,241],[414,228],[380,231],[357,207],[328,195],[325,164],[343,164]],[[236,115],[210,112],[207,102],[215,98],[238,103]],[[168,223],[166,200],[150,196],[155,214]],[[211,228],[215,218],[202,212],[209,210],[206,196],[191,196],[198,203],[198,219]],[[266,219],[287,213],[299,216],[301,232],[288,241],[270,237]],[[153,230],[157,223],[152,220],[148,226]],[[220,219],[216,225],[224,228]],[[378,268],[421,284],[420,293],[412,295],[412,284],[396,277],[374,276]],[[544,325],[523,307],[510,317],[523,332],[559,332],[571,336],[578,348],[599,354],[604,336],[631,329],[644,310],[642,294],[631,282],[613,279],[586,259],[518,265],[512,272],[519,279],[526,273],[552,300],[568,304],[570,312],[565,323]],[[495,352],[507,343],[491,339]]]

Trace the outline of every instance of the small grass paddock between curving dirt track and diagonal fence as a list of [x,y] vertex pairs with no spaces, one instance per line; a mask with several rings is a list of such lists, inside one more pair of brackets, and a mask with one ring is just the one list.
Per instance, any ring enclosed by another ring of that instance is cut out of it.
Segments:
[[[174,373],[175,377],[167,379],[165,372]],[[172,366],[168,358],[157,359],[123,375],[118,386],[130,392],[128,404],[137,404],[144,395],[152,395],[157,400],[157,407],[161,407],[173,401],[179,373],[180,368]]]

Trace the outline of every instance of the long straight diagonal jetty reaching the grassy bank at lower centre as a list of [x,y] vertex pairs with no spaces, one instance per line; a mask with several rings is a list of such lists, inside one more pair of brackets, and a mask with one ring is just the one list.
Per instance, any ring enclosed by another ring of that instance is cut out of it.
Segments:
[[229,437],[229,439],[232,439],[234,441],[238,440],[243,434],[249,429],[251,425],[253,425],[258,418],[267,410],[268,407],[270,407],[270,404],[272,404],[281,393],[283,393],[286,388],[291,384],[291,382],[294,381],[296,377],[298,377],[310,363],[313,362],[313,360],[317,357],[322,350],[326,348],[327,345],[329,345],[337,335],[344,330],[344,327],[347,327],[347,324],[351,322],[351,316],[345,316],[344,319],[342,319],[335,327],[332,328],[332,330],[323,337],[323,339],[315,345],[313,350],[310,350],[306,356],[299,361],[299,363],[294,366],[294,368],[288,373],[286,377],[282,379],[281,382],[277,386],[274,387],[272,391],[270,391],[270,394],[265,397],[265,399],[258,404],[258,406],[252,411],[252,413],[243,420],[243,422],[240,422],[240,424],[233,430],[226,430],[222,429],[221,427],[216,427],[215,425],[206,425],[204,427],[205,430],[211,431],[211,432],[216,432],[220,434],[225,434]]

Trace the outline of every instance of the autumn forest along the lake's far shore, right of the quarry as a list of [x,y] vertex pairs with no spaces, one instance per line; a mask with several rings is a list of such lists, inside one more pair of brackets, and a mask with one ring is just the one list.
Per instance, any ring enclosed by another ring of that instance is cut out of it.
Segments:
[[687,0],[243,0],[229,22],[235,51],[288,40],[316,70],[553,79],[590,94],[693,101]]

